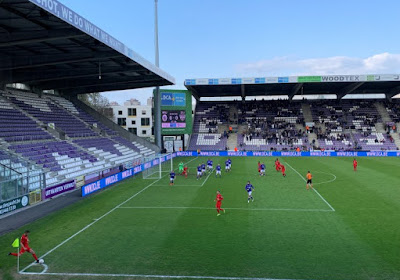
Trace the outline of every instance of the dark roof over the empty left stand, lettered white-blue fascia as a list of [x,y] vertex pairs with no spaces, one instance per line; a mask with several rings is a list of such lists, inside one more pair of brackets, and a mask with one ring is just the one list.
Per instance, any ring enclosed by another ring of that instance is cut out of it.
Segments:
[[174,82],[56,0],[0,0],[0,84],[80,94]]

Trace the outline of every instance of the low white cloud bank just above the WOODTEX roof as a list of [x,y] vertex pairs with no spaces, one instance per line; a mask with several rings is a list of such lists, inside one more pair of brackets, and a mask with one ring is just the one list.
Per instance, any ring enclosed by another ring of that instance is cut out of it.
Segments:
[[238,76],[391,74],[400,72],[400,54],[381,53],[367,58],[333,56],[293,59],[275,57],[235,67]]

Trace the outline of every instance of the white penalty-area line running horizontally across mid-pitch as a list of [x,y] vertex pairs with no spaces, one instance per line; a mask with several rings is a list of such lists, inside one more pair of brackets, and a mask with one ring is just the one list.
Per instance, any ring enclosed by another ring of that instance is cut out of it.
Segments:
[[[174,206],[121,206],[119,209],[199,209],[199,210],[215,210],[213,207],[174,207]],[[295,209],[295,208],[226,208],[227,210],[243,210],[243,211],[293,211],[293,212],[332,212],[328,209]]]

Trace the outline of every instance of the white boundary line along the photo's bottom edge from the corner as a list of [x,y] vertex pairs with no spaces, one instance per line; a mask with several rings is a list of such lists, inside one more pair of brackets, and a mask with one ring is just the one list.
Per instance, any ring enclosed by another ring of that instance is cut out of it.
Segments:
[[39,273],[24,272],[26,275],[52,275],[52,276],[90,276],[90,277],[137,277],[137,278],[168,278],[168,279],[213,279],[213,280],[300,280],[300,279],[274,279],[250,277],[218,277],[218,276],[185,276],[185,275],[150,275],[150,274],[112,274],[112,273]]

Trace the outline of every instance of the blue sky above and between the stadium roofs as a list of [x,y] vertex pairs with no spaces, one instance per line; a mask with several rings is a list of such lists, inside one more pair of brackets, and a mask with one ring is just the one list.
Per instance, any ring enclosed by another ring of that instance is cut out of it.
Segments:
[[[61,2],[154,62],[153,0]],[[186,78],[399,73],[398,11],[385,0],[159,0],[160,67],[179,89]]]

